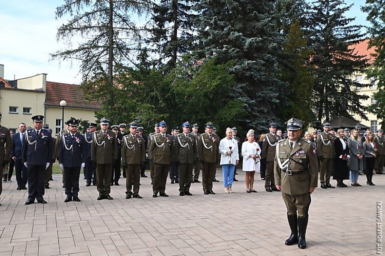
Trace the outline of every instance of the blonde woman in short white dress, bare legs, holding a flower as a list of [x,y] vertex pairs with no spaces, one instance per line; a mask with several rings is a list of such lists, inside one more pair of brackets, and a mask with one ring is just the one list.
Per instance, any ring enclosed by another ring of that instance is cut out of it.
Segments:
[[246,172],[244,177],[244,183],[246,184],[246,192],[256,192],[254,190],[254,173],[259,171],[260,160],[260,147],[258,143],[254,141],[254,130],[249,129],[247,134],[247,141],[242,143],[242,170]]

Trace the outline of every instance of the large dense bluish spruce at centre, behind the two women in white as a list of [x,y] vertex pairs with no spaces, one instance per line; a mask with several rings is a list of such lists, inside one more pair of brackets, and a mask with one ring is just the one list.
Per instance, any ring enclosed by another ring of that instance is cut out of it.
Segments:
[[274,0],[201,0],[196,5],[196,58],[236,60],[231,69],[236,84],[226,97],[241,102],[243,114],[234,124],[245,128],[264,130],[269,121],[276,121],[273,108],[284,88],[277,74],[284,38],[276,27],[274,4]]

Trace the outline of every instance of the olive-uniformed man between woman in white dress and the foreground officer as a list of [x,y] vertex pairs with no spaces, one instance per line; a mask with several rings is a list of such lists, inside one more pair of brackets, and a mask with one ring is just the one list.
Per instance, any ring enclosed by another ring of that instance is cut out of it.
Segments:
[[274,184],[274,157],[275,145],[278,141],[276,132],[276,124],[274,122],[268,124],[269,133],[266,134],[262,144],[262,159],[266,159],[266,174],[264,176],[264,188],[267,192],[278,191]]

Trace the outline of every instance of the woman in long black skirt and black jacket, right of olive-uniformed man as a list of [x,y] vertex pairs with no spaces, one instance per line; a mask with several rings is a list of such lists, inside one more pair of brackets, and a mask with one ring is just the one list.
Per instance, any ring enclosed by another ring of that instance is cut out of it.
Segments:
[[333,179],[337,180],[337,187],[347,187],[344,179],[349,179],[349,167],[347,166],[347,155],[349,148],[347,141],[343,138],[343,129],[338,129],[334,140],[334,173]]

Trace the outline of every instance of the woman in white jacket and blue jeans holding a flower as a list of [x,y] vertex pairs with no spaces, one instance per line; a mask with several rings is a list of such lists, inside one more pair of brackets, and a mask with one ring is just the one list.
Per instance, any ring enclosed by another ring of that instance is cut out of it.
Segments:
[[232,138],[232,129],[226,128],[226,136],[219,142],[220,165],[223,173],[223,186],[226,193],[232,193],[235,165],[239,161],[238,142]]

